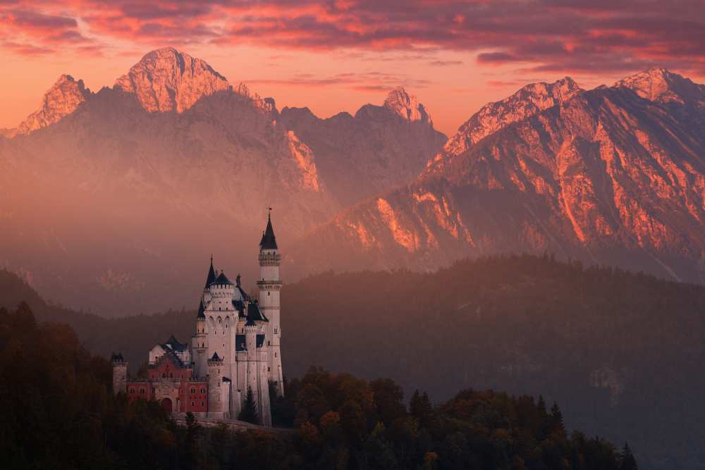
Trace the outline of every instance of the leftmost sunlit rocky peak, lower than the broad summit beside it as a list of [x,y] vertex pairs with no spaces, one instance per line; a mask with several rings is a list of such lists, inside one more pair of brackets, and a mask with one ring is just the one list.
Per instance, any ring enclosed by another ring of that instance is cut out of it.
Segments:
[[71,75],[61,75],[44,94],[42,107],[27,116],[12,135],[29,134],[59,122],[64,116],[73,113],[90,94],[90,89],[85,87],[83,80],[75,80]]

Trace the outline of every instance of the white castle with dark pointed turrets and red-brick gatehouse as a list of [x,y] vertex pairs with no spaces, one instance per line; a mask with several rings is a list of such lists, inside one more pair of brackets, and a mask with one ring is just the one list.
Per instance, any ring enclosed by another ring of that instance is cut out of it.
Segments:
[[171,336],[149,351],[147,378],[128,380],[128,363],[113,354],[113,391],[129,400],[157,400],[171,413],[192,412],[214,419],[237,419],[251,390],[257,418],[271,426],[269,387],[283,395],[279,265],[281,255],[271,212],[259,242],[259,302],[225,273],[213,268],[206,278],[196,334],[190,347]]

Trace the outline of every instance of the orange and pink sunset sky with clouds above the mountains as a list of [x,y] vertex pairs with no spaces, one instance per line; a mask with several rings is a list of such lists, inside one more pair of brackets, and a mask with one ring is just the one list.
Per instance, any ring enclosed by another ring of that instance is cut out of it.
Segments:
[[705,0],[0,0],[0,128],[62,73],[98,91],[166,46],[320,117],[403,86],[452,135],[529,82],[654,66],[705,82]]

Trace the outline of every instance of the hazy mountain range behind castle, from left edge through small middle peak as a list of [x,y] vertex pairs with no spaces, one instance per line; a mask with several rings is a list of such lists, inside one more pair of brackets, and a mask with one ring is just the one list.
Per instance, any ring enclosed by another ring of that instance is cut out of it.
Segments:
[[[105,314],[190,305],[210,254],[219,268],[256,275],[267,206],[286,247],[420,171],[444,137],[403,98],[351,118],[352,132],[329,132],[282,118],[274,99],[172,48],[96,93],[63,75],[39,111],[0,137],[0,266],[51,299]],[[325,147],[351,139],[364,144]],[[418,148],[407,158],[398,142]]]

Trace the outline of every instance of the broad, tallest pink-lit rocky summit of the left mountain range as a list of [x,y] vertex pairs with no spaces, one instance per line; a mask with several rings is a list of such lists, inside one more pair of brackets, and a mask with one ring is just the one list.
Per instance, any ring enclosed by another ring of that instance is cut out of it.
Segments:
[[189,109],[202,97],[231,87],[208,63],[173,47],[146,54],[116,80],[115,86],[136,94],[147,111],[178,113]]

